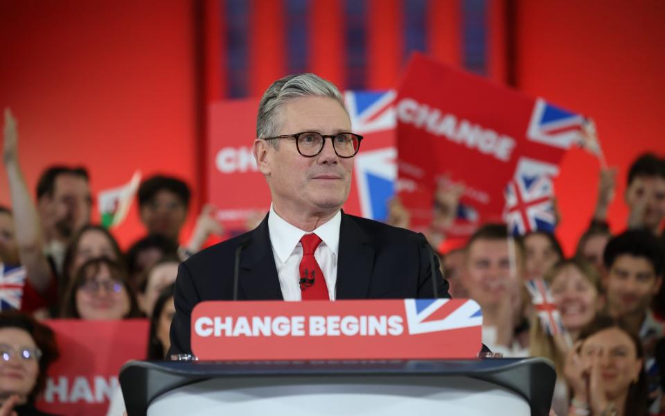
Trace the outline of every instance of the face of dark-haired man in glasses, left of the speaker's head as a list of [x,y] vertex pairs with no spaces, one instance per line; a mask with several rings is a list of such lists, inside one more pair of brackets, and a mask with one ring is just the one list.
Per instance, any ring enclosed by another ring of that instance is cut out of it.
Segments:
[[187,218],[187,209],[177,194],[163,189],[141,207],[141,222],[149,234],[160,234],[178,241]]

